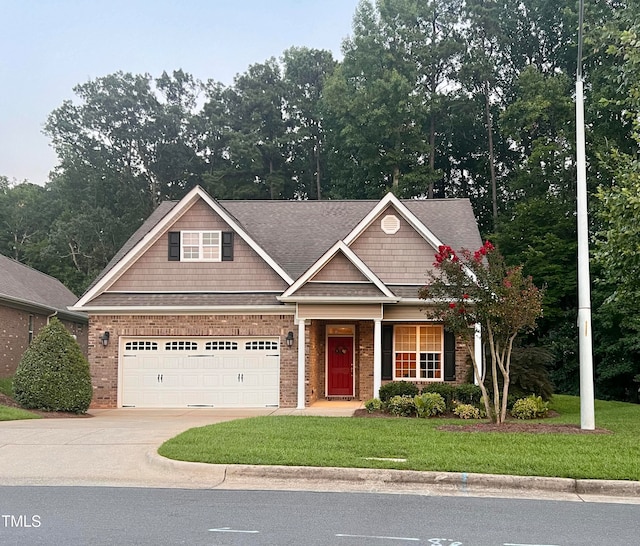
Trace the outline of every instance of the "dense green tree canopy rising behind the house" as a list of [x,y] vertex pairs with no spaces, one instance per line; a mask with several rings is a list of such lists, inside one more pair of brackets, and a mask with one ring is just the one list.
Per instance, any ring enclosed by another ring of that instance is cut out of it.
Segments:
[[[640,374],[626,305],[640,268],[640,8],[585,7],[596,388],[624,397]],[[230,85],[181,69],[80,83],[45,124],[58,157],[46,186],[0,177],[0,252],[80,293],[159,202],[196,184],[224,199],[467,197],[507,263],[545,284],[531,341],[575,392],[576,8],[362,0],[340,61],[294,46]]]

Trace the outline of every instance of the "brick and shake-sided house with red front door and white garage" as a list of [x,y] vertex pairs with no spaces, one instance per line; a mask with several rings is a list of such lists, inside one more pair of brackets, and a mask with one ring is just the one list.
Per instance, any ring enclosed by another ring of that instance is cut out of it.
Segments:
[[441,244],[481,245],[467,199],[162,203],[72,307],[94,407],[303,408],[390,380],[463,382],[418,298]]

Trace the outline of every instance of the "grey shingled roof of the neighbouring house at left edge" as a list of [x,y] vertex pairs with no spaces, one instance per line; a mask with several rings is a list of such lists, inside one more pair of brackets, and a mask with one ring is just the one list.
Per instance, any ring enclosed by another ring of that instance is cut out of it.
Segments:
[[58,279],[0,254],[0,304],[86,322],[84,313],[67,310],[77,299]]

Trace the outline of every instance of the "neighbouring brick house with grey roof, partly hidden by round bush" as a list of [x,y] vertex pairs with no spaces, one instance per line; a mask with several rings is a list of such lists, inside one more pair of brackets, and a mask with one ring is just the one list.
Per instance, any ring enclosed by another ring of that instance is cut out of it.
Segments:
[[87,315],[68,309],[77,299],[59,280],[0,255],[0,377],[15,373],[22,353],[52,316],[87,356]]

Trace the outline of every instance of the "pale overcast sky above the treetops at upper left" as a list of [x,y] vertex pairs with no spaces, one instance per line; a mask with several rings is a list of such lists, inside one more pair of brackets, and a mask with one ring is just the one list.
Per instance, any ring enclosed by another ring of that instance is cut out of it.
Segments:
[[73,87],[179,68],[225,84],[291,46],[340,59],[358,0],[0,0],[0,175],[47,181],[42,127]]

